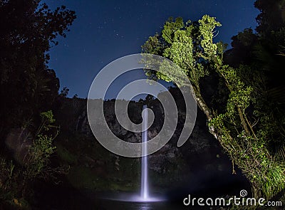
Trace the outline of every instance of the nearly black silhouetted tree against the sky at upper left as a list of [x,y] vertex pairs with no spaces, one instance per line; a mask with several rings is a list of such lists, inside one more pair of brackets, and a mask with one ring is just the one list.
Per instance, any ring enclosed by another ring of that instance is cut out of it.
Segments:
[[65,6],[51,11],[39,0],[0,0],[1,134],[51,108],[59,80],[48,51],[75,18]]

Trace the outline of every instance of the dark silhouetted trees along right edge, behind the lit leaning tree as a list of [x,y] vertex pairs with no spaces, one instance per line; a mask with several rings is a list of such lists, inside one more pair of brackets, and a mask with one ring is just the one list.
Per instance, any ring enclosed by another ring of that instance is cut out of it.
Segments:
[[285,1],[255,1],[261,11],[257,33],[245,29],[232,37],[232,49],[226,63],[240,68],[239,76],[254,88],[254,117],[262,135],[269,140],[270,151],[285,159]]

